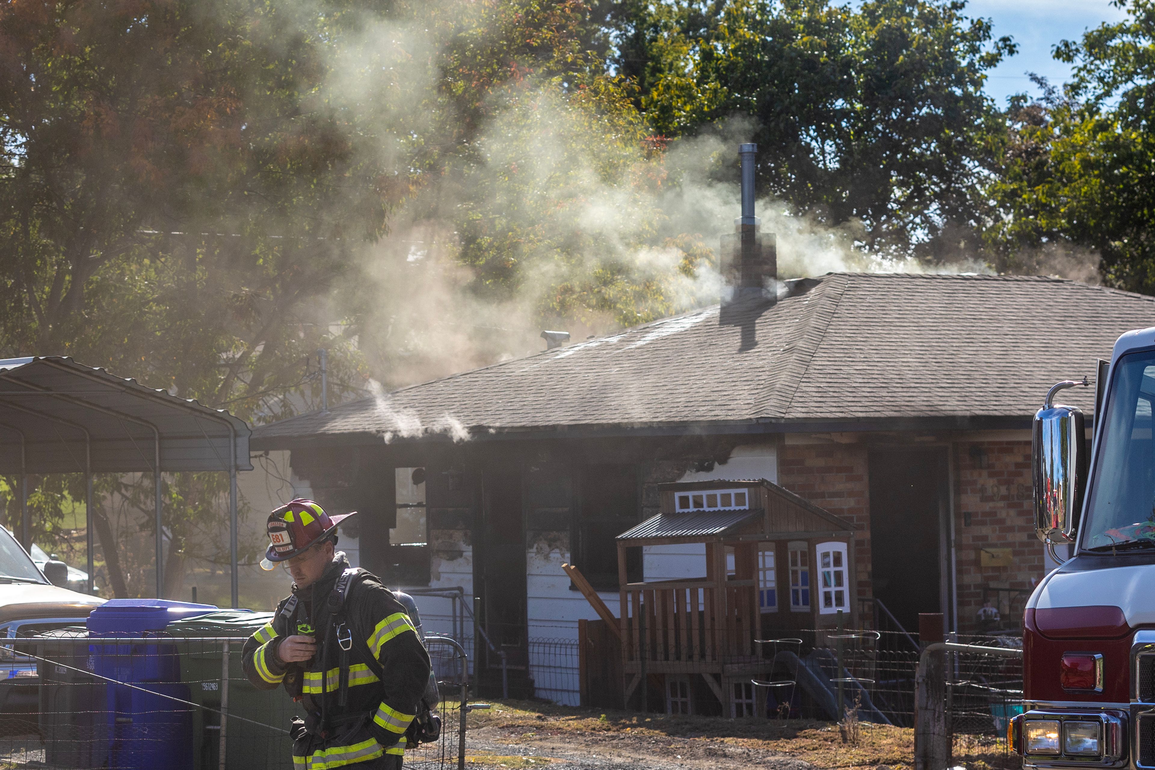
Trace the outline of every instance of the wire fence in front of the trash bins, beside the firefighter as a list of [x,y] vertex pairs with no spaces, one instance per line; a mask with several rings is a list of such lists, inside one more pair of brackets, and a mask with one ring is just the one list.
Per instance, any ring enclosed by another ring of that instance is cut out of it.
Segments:
[[[244,641],[92,638],[84,628],[10,640],[0,646],[0,768],[290,770],[290,722],[304,710],[284,689],[248,681]],[[463,764],[467,663],[452,640],[430,636],[426,646],[442,728],[435,742],[407,749],[404,763],[448,770]],[[357,731],[367,727],[353,724],[331,742]]]

